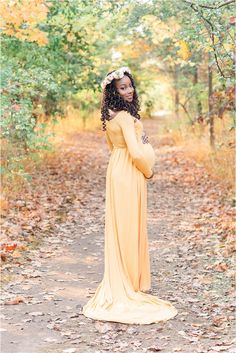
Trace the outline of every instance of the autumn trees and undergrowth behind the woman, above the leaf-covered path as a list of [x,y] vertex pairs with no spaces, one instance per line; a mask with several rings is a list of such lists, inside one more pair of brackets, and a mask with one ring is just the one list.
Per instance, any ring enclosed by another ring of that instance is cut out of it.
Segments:
[[175,141],[232,186],[233,2],[1,1],[4,180],[30,180],[55,133],[99,127],[100,82],[128,65],[143,115],[171,115]]

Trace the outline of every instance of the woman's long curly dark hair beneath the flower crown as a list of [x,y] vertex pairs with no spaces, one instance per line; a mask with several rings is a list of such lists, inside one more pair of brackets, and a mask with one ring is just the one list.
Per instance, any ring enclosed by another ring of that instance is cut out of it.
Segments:
[[[114,72],[115,70],[108,72],[107,76]],[[134,96],[133,101],[131,103],[125,101],[118,93],[115,86],[115,79],[111,81],[108,85],[106,85],[103,97],[102,97],[102,105],[101,105],[101,121],[102,121],[102,130],[106,131],[106,120],[110,120],[109,110],[111,109],[115,112],[125,110],[129,112],[132,116],[137,119],[140,119],[140,115],[138,111],[140,110],[140,103],[138,99],[138,94],[136,91],[136,86],[134,83],[134,79],[132,75],[128,72],[124,73],[126,76],[130,78],[132,86],[134,88]]]

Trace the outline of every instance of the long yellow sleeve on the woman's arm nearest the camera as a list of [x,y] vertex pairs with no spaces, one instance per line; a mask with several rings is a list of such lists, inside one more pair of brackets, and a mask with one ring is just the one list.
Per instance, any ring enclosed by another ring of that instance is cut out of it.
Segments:
[[145,177],[149,178],[152,175],[152,170],[148,166],[145,157],[138,146],[137,137],[135,134],[134,119],[128,112],[125,111],[121,112],[119,115],[119,123],[134,165],[144,174]]

